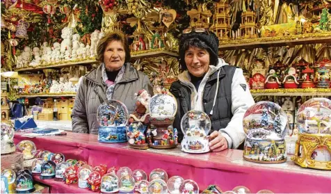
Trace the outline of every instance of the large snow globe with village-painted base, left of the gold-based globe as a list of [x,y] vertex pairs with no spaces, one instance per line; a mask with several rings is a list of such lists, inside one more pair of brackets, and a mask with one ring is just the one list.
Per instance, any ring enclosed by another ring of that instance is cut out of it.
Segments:
[[257,163],[286,161],[287,115],[273,102],[257,102],[243,116],[243,158]]

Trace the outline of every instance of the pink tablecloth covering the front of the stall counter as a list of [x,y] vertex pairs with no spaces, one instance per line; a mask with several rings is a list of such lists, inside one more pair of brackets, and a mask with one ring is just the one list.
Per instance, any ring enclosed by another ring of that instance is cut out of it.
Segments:
[[[15,134],[15,144],[32,140],[38,149],[61,152],[67,159],[88,161],[91,165],[106,164],[142,169],[148,174],[163,168],[168,176],[193,179],[204,190],[210,184],[223,191],[246,186],[252,192],[268,189],[274,193],[331,193],[331,172],[300,168],[290,159],[281,164],[260,164],[243,160],[241,150],[229,149],[208,154],[186,154],[176,149],[131,149],[126,143],[99,143],[97,136],[67,133],[67,136],[26,138]],[[58,185],[54,185],[58,186]],[[56,193],[56,189],[52,189]],[[80,193],[68,190],[66,193]]]

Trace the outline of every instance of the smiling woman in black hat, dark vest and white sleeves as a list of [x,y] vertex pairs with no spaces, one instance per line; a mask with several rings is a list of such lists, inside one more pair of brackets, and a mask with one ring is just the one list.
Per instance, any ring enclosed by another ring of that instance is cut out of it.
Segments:
[[179,43],[181,68],[170,92],[177,98],[174,127],[183,138],[181,118],[190,110],[211,119],[209,147],[213,152],[237,149],[245,140],[243,115],[254,104],[243,70],[218,58],[218,38],[209,31],[183,33]]

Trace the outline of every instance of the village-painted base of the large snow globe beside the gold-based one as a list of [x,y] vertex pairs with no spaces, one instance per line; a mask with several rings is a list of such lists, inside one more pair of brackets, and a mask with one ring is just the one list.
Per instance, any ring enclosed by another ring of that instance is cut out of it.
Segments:
[[246,138],[243,159],[256,163],[284,163],[287,159],[285,140]]

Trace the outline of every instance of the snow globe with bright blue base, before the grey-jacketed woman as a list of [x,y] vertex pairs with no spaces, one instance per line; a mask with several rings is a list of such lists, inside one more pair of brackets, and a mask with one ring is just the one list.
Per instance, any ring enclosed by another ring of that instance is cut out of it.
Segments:
[[127,142],[127,106],[118,100],[108,100],[97,109],[99,122],[98,140],[102,143]]

